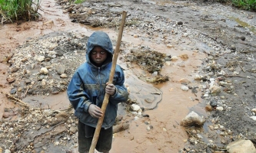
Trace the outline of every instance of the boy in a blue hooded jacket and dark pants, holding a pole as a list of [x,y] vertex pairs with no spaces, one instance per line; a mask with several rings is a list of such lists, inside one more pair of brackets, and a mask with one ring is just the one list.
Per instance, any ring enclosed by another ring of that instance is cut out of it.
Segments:
[[102,116],[101,105],[108,93],[108,106],[96,150],[109,152],[112,143],[112,125],[117,116],[118,103],[128,99],[125,75],[119,65],[115,68],[113,84],[108,84],[113,47],[108,34],[95,31],[88,38],[86,62],[76,70],[68,85],[68,99],[78,117],[78,151],[88,152],[98,119]]

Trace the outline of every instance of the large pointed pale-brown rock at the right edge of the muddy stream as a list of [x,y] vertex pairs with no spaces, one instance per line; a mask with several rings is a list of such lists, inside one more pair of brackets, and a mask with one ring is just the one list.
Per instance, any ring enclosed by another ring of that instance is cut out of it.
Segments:
[[191,125],[203,125],[205,119],[201,116],[198,116],[198,114],[194,111],[190,112],[188,116],[185,117],[185,119],[182,119],[181,125],[183,126],[191,126]]

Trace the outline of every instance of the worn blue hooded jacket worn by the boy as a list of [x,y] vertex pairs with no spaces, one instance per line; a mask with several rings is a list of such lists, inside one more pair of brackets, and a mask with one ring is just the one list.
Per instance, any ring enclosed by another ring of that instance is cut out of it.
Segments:
[[[101,67],[95,67],[89,57],[91,50],[95,46],[102,47],[108,51],[108,57]],[[108,83],[111,71],[113,53],[114,50],[108,34],[102,31],[95,31],[88,38],[86,62],[78,67],[68,85],[68,99],[75,109],[75,116],[85,125],[91,127],[96,127],[97,125],[98,119],[91,117],[88,107],[93,103],[101,108],[105,97],[106,83]],[[114,125],[118,103],[126,102],[128,99],[128,91],[124,82],[124,72],[119,65],[116,65],[113,79],[116,93],[113,96],[109,96],[102,128],[108,129]]]

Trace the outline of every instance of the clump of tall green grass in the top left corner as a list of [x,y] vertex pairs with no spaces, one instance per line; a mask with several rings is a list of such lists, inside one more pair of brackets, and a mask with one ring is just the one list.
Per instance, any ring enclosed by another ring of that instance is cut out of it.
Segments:
[[0,19],[5,21],[38,18],[40,0],[0,0]]

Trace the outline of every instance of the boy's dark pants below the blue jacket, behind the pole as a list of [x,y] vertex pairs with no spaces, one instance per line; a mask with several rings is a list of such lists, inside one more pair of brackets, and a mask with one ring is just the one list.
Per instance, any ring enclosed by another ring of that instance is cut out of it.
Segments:
[[[82,122],[78,122],[78,151],[81,153],[88,152],[91,147],[92,138],[95,132],[95,128],[85,125]],[[86,135],[86,136],[85,136]],[[100,152],[110,151],[112,145],[113,128],[103,129],[98,137],[96,150]]]

